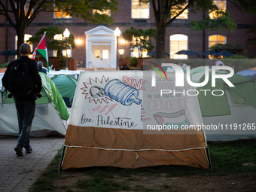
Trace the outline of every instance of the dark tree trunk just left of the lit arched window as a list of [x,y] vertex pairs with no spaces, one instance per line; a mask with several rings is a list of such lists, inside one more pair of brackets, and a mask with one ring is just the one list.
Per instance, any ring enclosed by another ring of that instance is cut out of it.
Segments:
[[[164,23],[163,23],[164,22]],[[166,47],[166,21],[156,24],[156,58],[164,58],[164,52]]]

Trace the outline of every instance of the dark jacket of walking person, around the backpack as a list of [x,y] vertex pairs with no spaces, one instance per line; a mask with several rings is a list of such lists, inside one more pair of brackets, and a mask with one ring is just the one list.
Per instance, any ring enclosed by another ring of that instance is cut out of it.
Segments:
[[[29,96],[14,96],[14,100],[16,101],[22,101],[22,102],[29,102],[29,101],[33,101],[35,99],[37,99],[37,95],[38,93],[41,92],[41,77],[38,74],[38,65],[37,62],[34,59],[29,59],[28,56],[20,56],[20,58],[17,59],[18,62],[27,62],[29,64],[29,69],[32,75],[32,81],[33,84],[35,84],[34,90],[32,91],[31,94],[29,94]],[[8,67],[5,71],[5,75],[2,78],[2,85],[6,88],[8,87],[8,78],[9,78],[9,73],[10,73],[10,69],[11,69],[11,64],[12,62],[10,62],[8,64]]]

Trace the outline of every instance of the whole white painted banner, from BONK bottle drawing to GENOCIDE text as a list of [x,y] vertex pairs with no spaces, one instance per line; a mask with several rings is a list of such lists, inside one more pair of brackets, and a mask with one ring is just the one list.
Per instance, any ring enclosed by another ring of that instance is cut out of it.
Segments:
[[167,77],[152,87],[151,72],[81,72],[69,123],[129,130],[201,124],[194,87],[175,87],[175,74]]

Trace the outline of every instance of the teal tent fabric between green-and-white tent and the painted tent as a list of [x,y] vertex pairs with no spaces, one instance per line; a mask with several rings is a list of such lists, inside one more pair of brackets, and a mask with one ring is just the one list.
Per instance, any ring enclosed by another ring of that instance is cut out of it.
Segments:
[[78,81],[70,75],[56,75],[51,80],[58,88],[60,95],[68,97],[69,104],[72,104]]

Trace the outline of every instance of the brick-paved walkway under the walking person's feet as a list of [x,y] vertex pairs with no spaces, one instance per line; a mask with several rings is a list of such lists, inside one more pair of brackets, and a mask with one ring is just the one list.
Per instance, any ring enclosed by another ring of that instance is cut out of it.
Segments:
[[18,157],[15,137],[0,137],[0,191],[29,191],[63,145],[64,138],[30,138],[32,153]]

